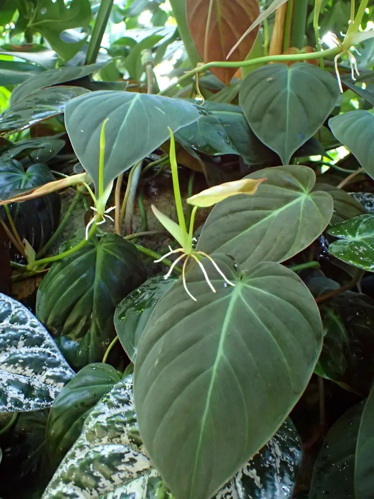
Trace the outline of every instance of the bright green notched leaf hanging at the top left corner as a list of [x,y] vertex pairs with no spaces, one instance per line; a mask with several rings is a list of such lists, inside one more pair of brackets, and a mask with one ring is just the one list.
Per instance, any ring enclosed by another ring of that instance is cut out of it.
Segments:
[[41,33],[53,50],[68,61],[83,47],[87,37],[67,43],[61,39],[61,33],[71,28],[87,28],[91,18],[89,0],[72,0],[69,5],[63,0],[38,0],[27,27]]

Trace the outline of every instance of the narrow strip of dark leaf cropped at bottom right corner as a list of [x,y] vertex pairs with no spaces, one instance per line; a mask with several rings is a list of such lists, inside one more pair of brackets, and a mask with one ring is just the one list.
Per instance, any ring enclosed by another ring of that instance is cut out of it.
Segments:
[[369,394],[361,418],[356,447],[355,498],[374,496],[374,389]]

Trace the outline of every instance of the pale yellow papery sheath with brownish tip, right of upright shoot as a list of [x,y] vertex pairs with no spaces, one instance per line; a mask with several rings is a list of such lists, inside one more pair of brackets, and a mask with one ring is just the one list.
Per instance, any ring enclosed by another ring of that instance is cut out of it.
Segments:
[[187,199],[187,203],[199,208],[206,208],[236,194],[254,194],[257,191],[257,187],[265,180],[241,179],[234,182],[225,182],[224,184],[210,187],[191,196]]

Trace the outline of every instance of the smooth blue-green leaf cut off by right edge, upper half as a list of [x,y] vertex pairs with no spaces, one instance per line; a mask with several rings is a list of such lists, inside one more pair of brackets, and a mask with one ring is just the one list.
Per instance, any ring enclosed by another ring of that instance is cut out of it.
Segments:
[[358,109],[338,114],[329,120],[335,137],[356,156],[368,175],[374,178],[374,116]]

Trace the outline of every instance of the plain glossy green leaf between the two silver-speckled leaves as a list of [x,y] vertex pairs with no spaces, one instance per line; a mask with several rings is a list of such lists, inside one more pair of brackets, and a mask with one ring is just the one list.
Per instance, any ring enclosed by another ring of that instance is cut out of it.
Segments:
[[57,395],[47,424],[47,449],[58,465],[79,437],[91,409],[121,376],[108,364],[83,367]]

